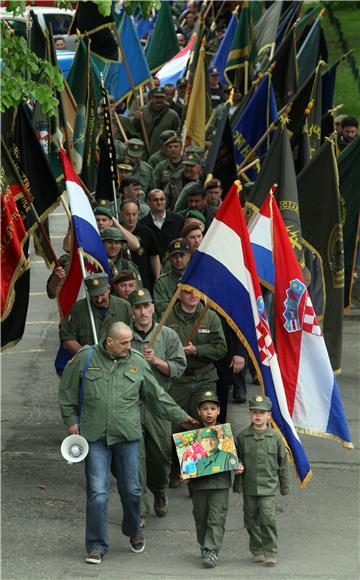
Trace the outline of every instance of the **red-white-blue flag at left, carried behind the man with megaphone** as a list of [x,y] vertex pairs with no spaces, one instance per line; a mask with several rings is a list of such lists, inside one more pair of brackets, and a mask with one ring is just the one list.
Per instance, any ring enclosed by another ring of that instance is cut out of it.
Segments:
[[85,298],[79,250],[83,254],[87,274],[107,272],[110,277],[111,272],[90,202],[64,149],[60,149],[59,157],[69,197],[73,231],[70,266],[57,293],[60,315],[64,318],[77,300]]

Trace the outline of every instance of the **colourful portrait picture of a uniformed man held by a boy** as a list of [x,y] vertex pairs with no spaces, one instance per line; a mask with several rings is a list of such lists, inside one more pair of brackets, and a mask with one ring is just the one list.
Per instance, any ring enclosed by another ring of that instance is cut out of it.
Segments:
[[183,480],[236,469],[238,457],[230,423],[175,433]]

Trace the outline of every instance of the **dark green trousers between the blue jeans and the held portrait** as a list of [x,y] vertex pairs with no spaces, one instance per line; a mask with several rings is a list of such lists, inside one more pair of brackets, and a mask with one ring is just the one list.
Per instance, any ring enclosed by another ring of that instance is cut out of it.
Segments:
[[157,495],[165,493],[171,466],[171,423],[141,409],[143,438],[140,446],[141,515],[149,513],[147,488]]

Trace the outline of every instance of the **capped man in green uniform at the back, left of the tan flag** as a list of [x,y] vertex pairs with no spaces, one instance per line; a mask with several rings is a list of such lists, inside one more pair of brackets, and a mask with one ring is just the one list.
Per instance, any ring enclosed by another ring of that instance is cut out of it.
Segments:
[[166,102],[164,89],[154,87],[150,91],[150,102],[132,119],[136,131],[141,134],[140,118],[144,119],[146,132],[149,137],[149,154],[156,153],[161,147],[160,135],[165,130],[173,130],[176,133],[180,127],[179,115],[170,109]]

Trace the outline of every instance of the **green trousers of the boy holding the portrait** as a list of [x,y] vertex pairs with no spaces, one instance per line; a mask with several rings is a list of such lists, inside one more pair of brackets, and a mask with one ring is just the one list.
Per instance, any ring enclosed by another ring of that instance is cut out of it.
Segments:
[[224,540],[229,489],[194,489],[192,502],[197,541],[218,554]]

